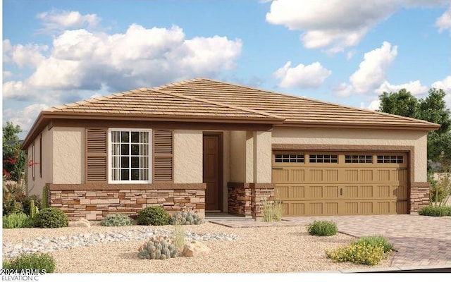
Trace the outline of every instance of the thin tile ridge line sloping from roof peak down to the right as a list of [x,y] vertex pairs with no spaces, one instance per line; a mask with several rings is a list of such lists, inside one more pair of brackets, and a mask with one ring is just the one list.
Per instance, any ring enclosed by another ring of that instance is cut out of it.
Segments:
[[[392,116],[392,117],[396,117],[396,118],[403,118],[403,119],[405,119],[407,121],[419,121],[419,122],[427,124],[427,125],[438,125],[438,123],[431,123],[430,121],[425,121],[425,120],[418,119],[418,118],[411,118],[411,117],[408,117],[408,116],[399,116],[399,115],[396,115],[396,114],[385,113],[383,111],[372,111],[370,109],[362,109],[362,108],[357,108],[357,107],[354,107],[354,106],[347,106],[347,105],[333,103],[333,102],[324,102],[324,101],[321,101],[321,100],[318,100],[318,99],[314,99],[314,98],[310,98],[310,97],[299,97],[299,96],[296,96],[296,95],[293,95],[293,94],[284,94],[284,93],[279,93],[279,92],[272,92],[272,91],[269,91],[269,90],[262,90],[262,89],[259,89],[259,88],[256,88],[256,87],[251,87],[251,86],[247,86],[247,85],[239,85],[237,83],[232,83],[232,82],[223,82],[223,81],[214,80],[214,79],[211,79],[211,78],[196,78],[194,80],[208,80],[208,81],[211,81],[211,82],[217,82],[217,83],[222,83],[222,84],[233,85],[235,87],[243,87],[243,88],[247,88],[247,89],[251,89],[251,90],[257,90],[257,91],[260,91],[260,92],[266,92],[266,93],[269,93],[269,94],[277,94],[277,95],[281,95],[281,96],[292,97],[292,98],[296,98],[296,99],[304,99],[304,100],[311,101],[311,102],[317,102],[317,103],[320,103],[320,104],[329,104],[329,105],[338,106],[338,107],[342,107],[342,108],[353,109],[353,110],[357,110],[357,111],[364,111],[366,113],[379,114],[381,116]],[[184,82],[187,82],[187,80],[185,80]]]

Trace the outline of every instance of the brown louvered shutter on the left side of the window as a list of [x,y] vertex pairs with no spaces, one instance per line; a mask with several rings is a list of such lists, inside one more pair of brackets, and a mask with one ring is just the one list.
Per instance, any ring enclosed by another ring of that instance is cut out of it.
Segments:
[[86,129],[86,182],[106,182],[107,134],[105,128]]

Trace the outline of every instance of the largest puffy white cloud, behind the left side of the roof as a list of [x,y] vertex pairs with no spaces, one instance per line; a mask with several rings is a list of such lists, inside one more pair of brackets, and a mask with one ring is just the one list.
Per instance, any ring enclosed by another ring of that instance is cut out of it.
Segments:
[[[18,46],[10,49],[15,48]],[[37,66],[30,77],[4,84],[4,96],[42,101],[44,93],[61,90],[57,96],[66,101],[81,90],[91,91],[90,96],[101,89],[116,92],[198,76],[214,77],[235,67],[241,49],[240,39],[186,39],[178,26],[147,29],[134,24],[125,33],[111,35],[66,30],[54,37],[47,56],[39,49],[44,57],[35,56],[39,60],[33,60]]]

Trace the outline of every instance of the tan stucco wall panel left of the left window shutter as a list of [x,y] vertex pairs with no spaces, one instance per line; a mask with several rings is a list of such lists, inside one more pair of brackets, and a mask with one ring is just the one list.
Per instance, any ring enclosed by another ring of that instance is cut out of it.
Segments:
[[85,182],[85,128],[52,128],[54,184]]

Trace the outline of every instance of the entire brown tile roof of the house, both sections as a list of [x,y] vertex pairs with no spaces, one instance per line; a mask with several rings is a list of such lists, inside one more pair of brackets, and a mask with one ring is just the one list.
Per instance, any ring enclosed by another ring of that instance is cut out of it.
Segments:
[[266,121],[341,128],[437,129],[414,118],[357,109],[228,82],[196,78],[54,106],[44,114],[101,114],[146,118]]

